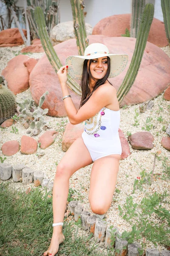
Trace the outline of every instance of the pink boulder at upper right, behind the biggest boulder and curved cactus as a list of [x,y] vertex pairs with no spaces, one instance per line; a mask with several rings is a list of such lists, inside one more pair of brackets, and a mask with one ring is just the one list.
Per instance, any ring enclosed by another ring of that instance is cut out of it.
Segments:
[[[105,17],[94,26],[92,35],[121,36],[125,34],[126,28],[130,31],[130,19],[131,14]],[[147,41],[159,47],[168,45],[164,23],[161,20],[153,18]]]

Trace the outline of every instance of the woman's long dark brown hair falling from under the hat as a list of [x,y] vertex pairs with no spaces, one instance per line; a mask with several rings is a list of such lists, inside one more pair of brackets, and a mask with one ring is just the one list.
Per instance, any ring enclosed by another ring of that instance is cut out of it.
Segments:
[[[102,84],[105,83],[106,80],[108,80],[108,76],[110,74],[110,71],[111,71],[111,60],[110,58],[107,56],[108,58],[108,70],[105,74],[105,76],[102,78],[102,79],[99,79],[98,81],[96,81],[96,84],[94,86],[94,90],[90,93],[90,87],[89,87],[89,84],[88,84],[88,81],[89,81],[89,78],[92,78],[94,81],[94,77],[91,75],[91,71],[90,71],[90,65],[91,65],[91,62],[92,62],[92,59],[90,60],[89,62],[89,66],[88,66],[88,60],[85,59],[84,63],[83,63],[83,70],[82,70],[82,80],[81,80],[81,83],[80,83],[80,87],[82,89],[82,99],[81,99],[81,102],[80,102],[80,106],[79,108],[82,107],[82,105],[85,104],[85,102],[88,101],[88,99],[91,97],[91,95],[94,93],[94,91]],[[109,82],[109,81],[108,81]],[[110,83],[110,82],[109,82]],[[111,84],[111,83],[110,83]],[[111,84],[112,85],[112,84]],[[90,95],[88,96],[88,94],[90,93]],[[87,97],[88,96],[88,97]]]

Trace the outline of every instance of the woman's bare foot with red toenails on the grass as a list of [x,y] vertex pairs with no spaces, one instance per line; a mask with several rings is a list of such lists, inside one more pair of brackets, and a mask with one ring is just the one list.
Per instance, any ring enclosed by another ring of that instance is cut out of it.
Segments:
[[44,256],[47,256],[47,255],[54,256],[58,252],[59,244],[61,244],[64,240],[65,240],[65,237],[62,233],[59,233],[59,234],[53,233],[50,246],[49,246],[48,250],[46,250],[43,255]]

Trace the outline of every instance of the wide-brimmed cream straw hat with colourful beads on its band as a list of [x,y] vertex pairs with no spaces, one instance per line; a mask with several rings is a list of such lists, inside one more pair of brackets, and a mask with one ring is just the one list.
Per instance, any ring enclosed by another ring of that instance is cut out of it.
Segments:
[[84,56],[71,55],[66,58],[65,65],[68,65],[68,74],[76,80],[82,79],[83,62],[85,59],[94,59],[108,56],[111,59],[111,72],[108,78],[118,76],[127,66],[127,54],[109,53],[108,47],[104,44],[90,44]]

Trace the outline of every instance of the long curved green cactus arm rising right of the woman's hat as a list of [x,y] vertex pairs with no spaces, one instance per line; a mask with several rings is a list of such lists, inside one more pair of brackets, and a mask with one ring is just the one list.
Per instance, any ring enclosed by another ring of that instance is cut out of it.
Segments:
[[136,38],[135,50],[133,52],[129,69],[127,70],[125,79],[123,80],[117,92],[117,98],[119,103],[122,101],[122,99],[125,97],[125,95],[128,93],[128,91],[132,87],[136,79],[136,76],[138,74],[144,49],[146,47],[150,26],[153,21],[153,15],[154,15],[154,6],[152,3],[147,3],[142,15],[142,21],[139,26],[139,32]]

